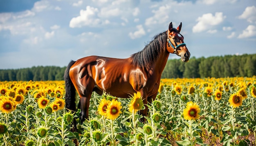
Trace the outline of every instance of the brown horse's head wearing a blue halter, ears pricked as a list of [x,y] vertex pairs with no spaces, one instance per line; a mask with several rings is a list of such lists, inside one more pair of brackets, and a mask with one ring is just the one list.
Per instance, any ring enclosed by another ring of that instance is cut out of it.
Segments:
[[183,62],[188,62],[190,53],[189,50],[186,48],[186,44],[184,43],[183,35],[180,34],[180,30],[182,27],[182,23],[177,29],[173,28],[173,23],[171,22],[169,25],[169,29],[166,31],[167,33],[167,44],[166,48],[167,51],[170,53],[175,53],[176,55],[181,57]]

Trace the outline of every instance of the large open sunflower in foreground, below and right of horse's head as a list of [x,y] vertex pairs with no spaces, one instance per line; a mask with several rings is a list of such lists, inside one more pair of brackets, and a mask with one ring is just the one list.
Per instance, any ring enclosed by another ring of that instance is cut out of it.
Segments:
[[184,119],[186,120],[195,120],[199,118],[200,108],[196,103],[192,101],[186,104],[186,108],[183,111]]

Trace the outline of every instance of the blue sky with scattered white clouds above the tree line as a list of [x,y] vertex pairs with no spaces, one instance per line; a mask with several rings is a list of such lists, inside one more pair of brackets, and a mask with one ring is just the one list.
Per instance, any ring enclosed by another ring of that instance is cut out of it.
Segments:
[[256,53],[256,0],[0,0],[0,69],[128,58],[170,22],[191,57]]

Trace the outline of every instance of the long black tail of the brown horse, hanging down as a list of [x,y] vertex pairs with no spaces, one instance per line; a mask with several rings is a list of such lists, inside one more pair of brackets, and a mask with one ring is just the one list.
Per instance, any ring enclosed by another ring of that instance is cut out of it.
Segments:
[[71,110],[72,112],[76,111],[76,89],[74,87],[74,84],[72,83],[71,79],[70,79],[70,68],[71,66],[75,63],[75,61],[71,61],[68,65],[67,65],[67,69],[65,70],[65,74],[64,74],[64,80],[65,80],[65,104],[66,104],[66,108],[67,110]]

